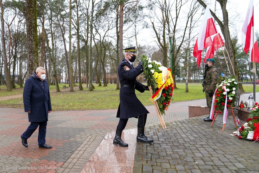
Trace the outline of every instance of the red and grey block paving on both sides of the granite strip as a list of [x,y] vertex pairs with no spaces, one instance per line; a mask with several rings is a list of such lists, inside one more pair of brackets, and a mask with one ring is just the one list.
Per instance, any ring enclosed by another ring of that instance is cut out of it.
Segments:
[[[165,130],[154,106],[147,106],[146,131],[154,144],[136,143],[133,172],[259,172],[259,143],[228,135],[236,130],[233,120],[221,131],[220,116],[212,127],[204,117],[188,118],[189,105],[205,104],[205,99],[173,103],[164,116]],[[43,149],[37,132],[28,148],[22,146],[20,135],[29,125],[23,109],[0,108],[0,172],[81,172],[105,135],[115,131],[116,111],[51,112],[46,143],[53,148]],[[126,129],[136,124],[129,119]]]

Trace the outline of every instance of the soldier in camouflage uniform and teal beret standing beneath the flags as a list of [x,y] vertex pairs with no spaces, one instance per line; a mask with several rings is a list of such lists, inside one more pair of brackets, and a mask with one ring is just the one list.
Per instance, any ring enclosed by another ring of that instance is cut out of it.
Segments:
[[[212,104],[212,96],[216,90],[216,85],[218,83],[218,71],[214,66],[215,61],[213,59],[207,59],[205,65],[204,79],[203,79],[203,92],[206,94],[207,106],[209,107],[209,114]],[[212,121],[212,119],[203,119],[204,121]]]

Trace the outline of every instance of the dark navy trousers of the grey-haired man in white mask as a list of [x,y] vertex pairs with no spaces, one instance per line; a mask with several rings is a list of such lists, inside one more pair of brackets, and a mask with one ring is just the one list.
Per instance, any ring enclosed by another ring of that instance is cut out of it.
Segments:
[[22,137],[24,139],[28,139],[29,137],[31,137],[33,132],[35,132],[38,126],[39,126],[38,144],[39,146],[41,146],[46,142],[45,137],[47,132],[47,121],[31,122],[27,130],[22,134]]

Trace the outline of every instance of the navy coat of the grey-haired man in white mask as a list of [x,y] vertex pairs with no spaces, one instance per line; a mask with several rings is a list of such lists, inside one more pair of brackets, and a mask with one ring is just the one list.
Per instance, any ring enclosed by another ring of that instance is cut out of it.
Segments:
[[40,78],[34,72],[26,80],[23,89],[24,111],[28,113],[29,122],[48,121],[48,111],[51,111],[50,90],[46,79],[43,80],[44,89]]

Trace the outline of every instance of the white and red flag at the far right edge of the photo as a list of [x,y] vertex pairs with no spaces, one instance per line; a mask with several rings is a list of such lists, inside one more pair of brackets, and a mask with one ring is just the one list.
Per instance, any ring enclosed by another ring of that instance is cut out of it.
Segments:
[[[250,0],[243,29],[242,29],[242,43],[243,45],[245,45],[245,48],[244,48],[245,53],[247,54],[247,52],[249,51],[250,61],[253,61],[254,59],[254,62],[259,63],[258,44],[255,38],[255,32],[253,34],[252,27],[254,27],[254,1]],[[254,41],[253,41],[253,35],[254,35]],[[254,51],[254,57],[253,57],[253,51]]]

